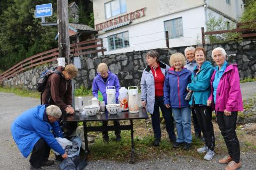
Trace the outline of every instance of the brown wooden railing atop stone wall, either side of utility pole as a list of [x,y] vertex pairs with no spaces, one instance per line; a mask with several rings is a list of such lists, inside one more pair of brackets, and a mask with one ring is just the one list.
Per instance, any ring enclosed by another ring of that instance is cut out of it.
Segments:
[[[98,47],[100,47],[98,49]],[[106,51],[103,48],[102,39],[94,39],[89,41],[82,41],[79,43],[70,44],[70,56],[82,56],[86,54],[97,54]],[[43,53],[33,55],[25,60],[15,64],[10,69],[0,74],[0,82],[13,77],[14,75],[31,69],[37,65],[56,61],[59,56],[59,48],[54,48]]]

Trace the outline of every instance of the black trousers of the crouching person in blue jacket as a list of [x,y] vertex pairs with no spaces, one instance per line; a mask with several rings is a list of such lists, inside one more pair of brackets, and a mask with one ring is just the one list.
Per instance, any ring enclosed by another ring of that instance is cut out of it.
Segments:
[[50,147],[47,145],[43,138],[40,138],[31,153],[29,162],[35,168],[42,166],[43,162],[46,162],[50,155]]

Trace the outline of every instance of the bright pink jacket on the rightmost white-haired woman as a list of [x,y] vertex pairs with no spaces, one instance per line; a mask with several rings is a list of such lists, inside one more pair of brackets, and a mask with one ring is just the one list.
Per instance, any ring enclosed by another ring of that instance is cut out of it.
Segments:
[[214,70],[211,78],[211,95],[208,98],[208,100],[212,100],[212,109],[220,112],[224,112],[225,109],[229,112],[243,111],[237,64],[227,64],[227,68],[218,84],[216,103],[214,104],[212,83],[215,73]]

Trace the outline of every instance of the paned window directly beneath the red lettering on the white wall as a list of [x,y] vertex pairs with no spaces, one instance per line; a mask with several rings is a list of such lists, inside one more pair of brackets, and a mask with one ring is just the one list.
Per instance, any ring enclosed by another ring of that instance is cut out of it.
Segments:
[[130,44],[128,31],[108,36],[108,45],[109,50],[129,47]]

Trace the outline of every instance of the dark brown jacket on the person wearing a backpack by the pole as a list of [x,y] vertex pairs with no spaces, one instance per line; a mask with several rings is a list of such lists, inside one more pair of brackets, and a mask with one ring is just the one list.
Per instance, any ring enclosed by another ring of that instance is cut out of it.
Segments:
[[[72,86],[71,80],[66,81],[62,71],[65,67],[58,66],[59,74],[51,74],[47,80],[44,92],[42,94],[42,104],[59,106],[63,111],[72,105]],[[51,92],[51,95],[50,95]]]

